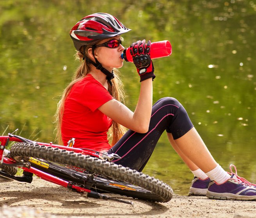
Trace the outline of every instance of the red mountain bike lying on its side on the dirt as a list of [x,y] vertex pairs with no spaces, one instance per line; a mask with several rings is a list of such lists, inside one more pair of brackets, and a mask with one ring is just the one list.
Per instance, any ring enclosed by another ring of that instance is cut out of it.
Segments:
[[[118,155],[73,148],[73,143],[71,139],[69,146],[60,146],[14,134],[0,136],[0,176],[31,183],[35,174],[46,181],[84,193],[87,197],[130,205],[133,202],[110,197],[107,193],[153,202],[171,200],[173,191],[169,185],[111,162],[120,158]],[[16,175],[17,168],[23,170],[22,176]]]

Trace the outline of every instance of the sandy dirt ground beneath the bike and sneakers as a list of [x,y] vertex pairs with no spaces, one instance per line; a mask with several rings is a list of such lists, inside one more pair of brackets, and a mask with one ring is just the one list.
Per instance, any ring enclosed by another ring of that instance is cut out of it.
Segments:
[[118,218],[118,217],[256,217],[256,201],[211,200],[174,195],[167,203],[132,200],[134,207],[109,200],[92,199],[34,177],[31,184],[0,177],[2,218]]

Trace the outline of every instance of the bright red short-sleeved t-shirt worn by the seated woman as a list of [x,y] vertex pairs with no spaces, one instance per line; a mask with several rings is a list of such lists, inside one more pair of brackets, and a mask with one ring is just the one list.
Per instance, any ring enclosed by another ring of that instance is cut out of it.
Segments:
[[71,88],[65,103],[61,134],[64,145],[75,138],[75,148],[108,150],[108,129],[112,120],[98,107],[113,99],[112,95],[91,74]]

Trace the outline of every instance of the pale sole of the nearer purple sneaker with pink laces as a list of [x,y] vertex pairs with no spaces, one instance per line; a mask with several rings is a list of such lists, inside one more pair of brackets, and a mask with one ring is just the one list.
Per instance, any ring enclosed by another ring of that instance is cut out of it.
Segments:
[[232,193],[217,193],[207,191],[206,197],[215,200],[256,200],[256,196],[236,195]]

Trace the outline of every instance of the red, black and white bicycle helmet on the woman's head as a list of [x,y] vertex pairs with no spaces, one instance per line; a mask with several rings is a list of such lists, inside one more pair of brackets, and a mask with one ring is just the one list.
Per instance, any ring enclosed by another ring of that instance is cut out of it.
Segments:
[[118,19],[107,13],[95,13],[78,21],[70,30],[76,50],[98,39],[107,39],[130,31]]

